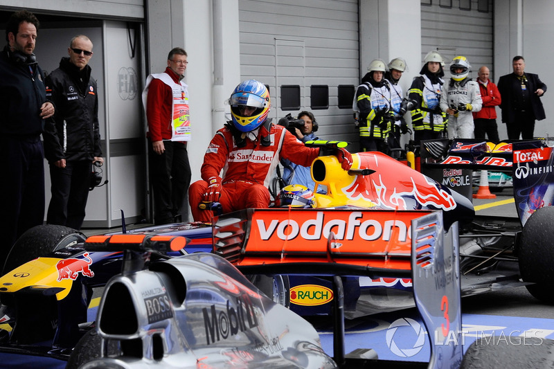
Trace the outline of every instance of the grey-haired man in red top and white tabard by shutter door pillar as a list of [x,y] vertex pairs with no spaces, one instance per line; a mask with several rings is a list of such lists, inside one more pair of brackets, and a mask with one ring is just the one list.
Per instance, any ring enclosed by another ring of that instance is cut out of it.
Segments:
[[187,64],[186,51],[173,48],[166,71],[149,75],[143,91],[154,224],[188,220],[190,119],[188,86],[183,80]]

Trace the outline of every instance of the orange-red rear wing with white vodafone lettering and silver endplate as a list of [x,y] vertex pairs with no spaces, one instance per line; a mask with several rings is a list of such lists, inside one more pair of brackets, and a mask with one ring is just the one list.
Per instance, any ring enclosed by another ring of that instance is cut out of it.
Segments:
[[[439,356],[454,367],[461,363],[458,224],[445,229],[442,211],[248,209],[220,217],[213,234],[215,253],[244,274],[332,276],[333,359],[339,367],[391,364],[367,359],[364,349],[345,354],[341,276],[412,278],[431,359],[409,365],[441,368]],[[364,240],[368,236],[373,239]]]

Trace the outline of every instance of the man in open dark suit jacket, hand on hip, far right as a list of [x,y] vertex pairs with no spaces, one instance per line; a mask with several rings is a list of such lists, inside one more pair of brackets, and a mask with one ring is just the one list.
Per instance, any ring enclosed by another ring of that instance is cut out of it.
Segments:
[[498,82],[502,102],[502,123],[506,123],[508,138],[518,140],[533,138],[535,120],[546,118],[539,97],[546,92],[539,76],[525,73],[524,57],[517,55],[512,60],[513,73],[503,75]]

